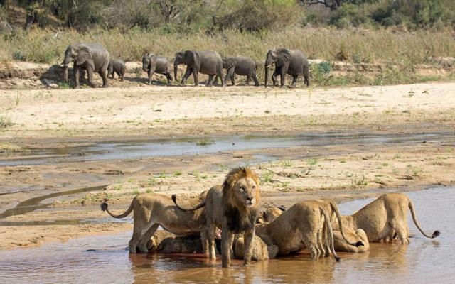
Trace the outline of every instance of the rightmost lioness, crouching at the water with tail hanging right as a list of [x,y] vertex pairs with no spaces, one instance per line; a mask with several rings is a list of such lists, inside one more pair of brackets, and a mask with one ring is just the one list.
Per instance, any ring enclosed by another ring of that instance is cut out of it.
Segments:
[[414,204],[410,197],[402,193],[381,195],[355,214],[343,216],[341,219],[343,219],[343,224],[351,229],[363,229],[369,241],[391,240],[396,235],[402,244],[409,244],[410,229],[407,225],[407,209],[410,209],[415,226],[424,236],[429,239],[439,236],[439,231],[434,231],[432,236],[425,234],[417,222]]

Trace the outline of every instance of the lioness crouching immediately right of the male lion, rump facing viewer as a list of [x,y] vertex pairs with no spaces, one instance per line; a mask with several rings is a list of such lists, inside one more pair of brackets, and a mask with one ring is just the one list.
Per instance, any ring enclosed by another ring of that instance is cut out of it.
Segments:
[[330,251],[336,261],[340,261],[333,247],[330,220],[328,212],[318,201],[299,202],[273,222],[257,225],[257,236],[260,236],[268,246],[277,245],[280,255],[301,251],[306,247],[311,253],[311,260],[316,261],[324,254],[321,250],[325,240],[320,238],[323,236],[323,230],[326,229]]

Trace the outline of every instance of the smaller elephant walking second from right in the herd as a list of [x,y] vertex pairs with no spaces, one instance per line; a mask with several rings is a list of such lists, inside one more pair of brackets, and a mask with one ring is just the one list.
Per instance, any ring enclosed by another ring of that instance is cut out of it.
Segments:
[[[259,68],[259,62],[255,62],[246,56],[238,56],[236,58],[221,58],[223,60],[223,69],[228,70],[225,77],[225,82],[230,81],[235,86],[235,75],[247,76],[247,85],[250,85],[250,80],[255,80],[255,86],[259,86],[256,71]],[[218,76],[215,77],[215,82],[218,81]]]

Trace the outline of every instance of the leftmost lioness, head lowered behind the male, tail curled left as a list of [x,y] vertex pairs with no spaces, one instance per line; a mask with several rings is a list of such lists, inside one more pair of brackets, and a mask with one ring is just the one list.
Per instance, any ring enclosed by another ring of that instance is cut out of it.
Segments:
[[[202,192],[195,198],[197,202],[205,199],[207,192]],[[133,236],[129,241],[129,252],[137,253],[137,249],[148,252],[147,242],[161,225],[166,231],[176,235],[200,233],[205,224],[205,211],[183,212],[172,202],[171,197],[157,193],[142,193],[134,197],[126,212],[116,215],[107,208],[107,203],[101,204],[102,211],[107,211],[114,218],[127,217],[134,211]]]

